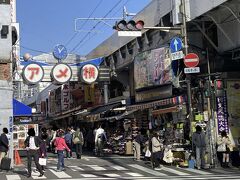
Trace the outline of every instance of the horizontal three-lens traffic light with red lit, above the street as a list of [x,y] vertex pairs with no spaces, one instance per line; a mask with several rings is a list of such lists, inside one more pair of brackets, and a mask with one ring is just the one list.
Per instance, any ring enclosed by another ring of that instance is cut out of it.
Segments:
[[121,20],[119,22],[116,22],[116,25],[113,27],[113,29],[116,29],[117,31],[141,31],[144,28],[144,22],[142,20],[139,21],[125,21]]

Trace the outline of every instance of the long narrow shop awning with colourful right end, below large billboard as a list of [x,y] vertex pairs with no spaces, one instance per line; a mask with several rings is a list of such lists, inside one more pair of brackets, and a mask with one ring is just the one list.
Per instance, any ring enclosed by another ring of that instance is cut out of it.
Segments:
[[141,103],[141,104],[127,106],[127,110],[133,110],[133,109],[143,110],[143,109],[149,109],[157,106],[166,106],[166,105],[174,106],[174,105],[182,104],[183,102],[184,102],[183,96],[177,96],[177,97],[172,97],[168,99],[162,99],[162,100],[152,101],[148,103]]

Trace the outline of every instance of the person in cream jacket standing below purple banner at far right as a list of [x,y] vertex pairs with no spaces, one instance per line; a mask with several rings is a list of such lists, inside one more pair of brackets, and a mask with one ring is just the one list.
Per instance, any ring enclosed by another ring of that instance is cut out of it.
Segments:
[[217,139],[217,146],[217,152],[222,156],[221,166],[229,167],[229,154],[232,151],[232,145],[226,131],[221,132],[221,136]]

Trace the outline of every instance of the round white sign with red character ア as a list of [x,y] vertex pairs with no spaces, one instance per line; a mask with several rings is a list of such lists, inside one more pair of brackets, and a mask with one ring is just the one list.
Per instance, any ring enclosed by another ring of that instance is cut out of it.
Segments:
[[44,70],[39,64],[31,63],[23,68],[22,76],[27,84],[37,84],[42,81]]

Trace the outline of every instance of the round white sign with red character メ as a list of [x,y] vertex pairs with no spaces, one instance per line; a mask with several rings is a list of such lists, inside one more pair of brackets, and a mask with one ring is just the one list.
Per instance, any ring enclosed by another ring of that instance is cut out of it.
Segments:
[[52,68],[51,77],[53,82],[64,84],[72,78],[72,69],[67,64],[58,63]]

